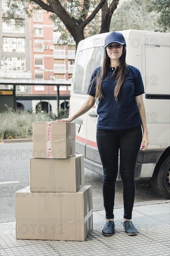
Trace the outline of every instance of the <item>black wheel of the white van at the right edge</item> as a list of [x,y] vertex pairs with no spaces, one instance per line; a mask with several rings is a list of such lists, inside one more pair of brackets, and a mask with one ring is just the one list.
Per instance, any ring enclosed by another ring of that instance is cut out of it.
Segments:
[[150,182],[157,194],[170,199],[170,156],[157,163]]

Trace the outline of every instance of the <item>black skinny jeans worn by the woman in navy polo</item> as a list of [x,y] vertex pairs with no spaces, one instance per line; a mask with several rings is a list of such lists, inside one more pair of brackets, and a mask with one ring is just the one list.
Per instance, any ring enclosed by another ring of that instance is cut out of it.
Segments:
[[118,175],[118,150],[120,148],[124,218],[131,219],[136,191],[135,166],[142,142],[141,125],[124,130],[97,129],[96,139],[104,171],[103,198],[106,218],[114,218],[115,181]]

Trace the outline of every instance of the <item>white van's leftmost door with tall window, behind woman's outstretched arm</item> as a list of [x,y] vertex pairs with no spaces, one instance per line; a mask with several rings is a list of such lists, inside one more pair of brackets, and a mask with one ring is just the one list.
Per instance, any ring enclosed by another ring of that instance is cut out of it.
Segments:
[[[87,88],[91,78],[93,48],[83,49],[82,43],[81,41],[78,44],[74,64],[69,116],[74,115],[87,100]],[[76,122],[76,153],[85,156],[87,113],[75,119],[74,122]]]

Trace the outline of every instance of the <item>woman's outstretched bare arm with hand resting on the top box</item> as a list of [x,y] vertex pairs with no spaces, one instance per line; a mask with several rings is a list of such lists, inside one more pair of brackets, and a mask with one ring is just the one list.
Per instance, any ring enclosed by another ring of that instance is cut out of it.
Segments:
[[71,117],[61,119],[61,120],[56,120],[56,121],[67,121],[67,122],[72,122],[74,119],[78,118],[80,115],[85,114],[89,109],[92,108],[92,106],[95,104],[95,98],[91,95],[88,95],[87,100],[83,103],[81,108]]

